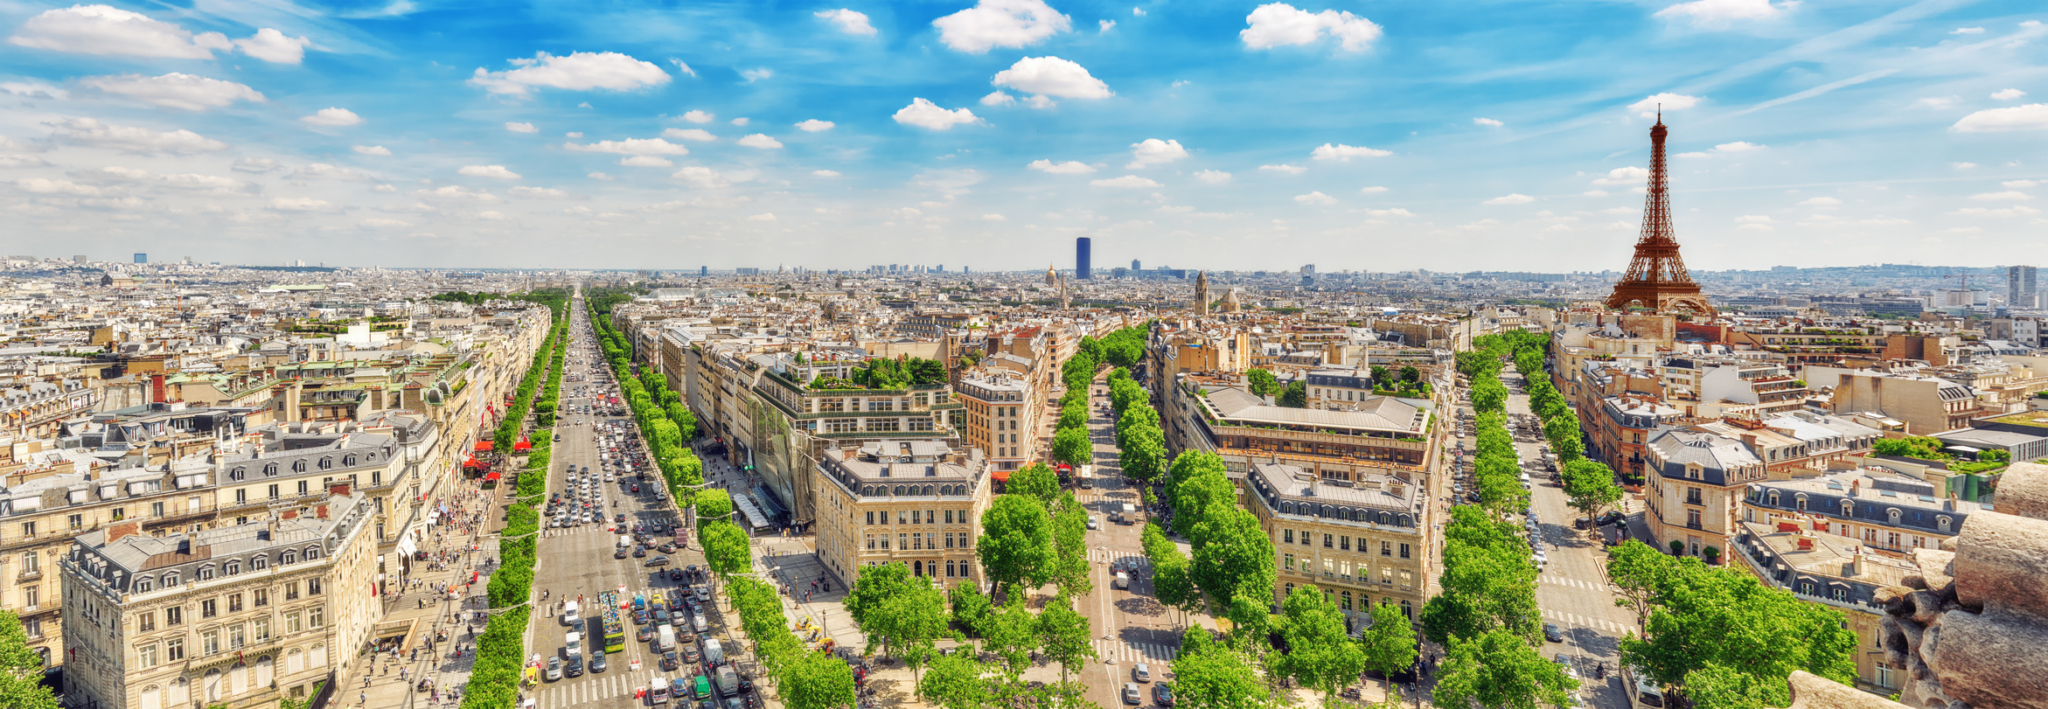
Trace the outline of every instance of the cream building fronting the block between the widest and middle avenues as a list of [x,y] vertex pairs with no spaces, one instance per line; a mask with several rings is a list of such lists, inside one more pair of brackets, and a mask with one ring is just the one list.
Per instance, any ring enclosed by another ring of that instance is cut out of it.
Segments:
[[846,584],[891,561],[942,586],[979,584],[991,473],[981,451],[940,441],[831,447],[817,461],[817,557]]

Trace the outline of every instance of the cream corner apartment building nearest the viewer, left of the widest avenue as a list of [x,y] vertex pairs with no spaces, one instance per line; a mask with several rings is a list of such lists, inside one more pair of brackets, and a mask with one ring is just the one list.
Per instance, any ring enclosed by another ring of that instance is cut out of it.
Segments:
[[348,486],[262,523],[80,535],[59,561],[72,705],[270,707],[348,682],[381,613],[371,508]]

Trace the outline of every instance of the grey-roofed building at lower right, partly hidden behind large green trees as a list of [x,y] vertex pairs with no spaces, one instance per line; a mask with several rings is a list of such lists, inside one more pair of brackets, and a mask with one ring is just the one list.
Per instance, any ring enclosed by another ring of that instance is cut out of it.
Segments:
[[1907,576],[1919,574],[1919,564],[1870,553],[1855,539],[1796,523],[1743,523],[1729,549],[1731,566],[1765,586],[1841,611],[1855,633],[1855,686],[1878,695],[1898,691],[1905,668],[1886,664],[1884,607],[1876,596],[1880,588],[1901,586]]

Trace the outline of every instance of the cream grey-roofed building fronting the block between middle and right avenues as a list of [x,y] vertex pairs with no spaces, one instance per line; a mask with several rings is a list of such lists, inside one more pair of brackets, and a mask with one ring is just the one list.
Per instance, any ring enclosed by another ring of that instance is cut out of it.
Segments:
[[1247,508],[1274,541],[1274,602],[1294,586],[1315,586],[1358,627],[1374,602],[1415,619],[1430,600],[1436,561],[1421,486],[1378,473],[1325,479],[1300,465],[1253,463],[1245,490]]

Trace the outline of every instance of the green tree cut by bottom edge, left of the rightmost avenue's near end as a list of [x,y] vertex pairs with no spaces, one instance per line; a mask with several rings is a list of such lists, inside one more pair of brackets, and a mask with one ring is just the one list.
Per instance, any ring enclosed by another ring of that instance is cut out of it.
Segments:
[[1452,637],[1432,699],[1438,707],[1536,709],[1565,707],[1577,689],[1565,666],[1546,660],[1528,639],[1491,629]]

